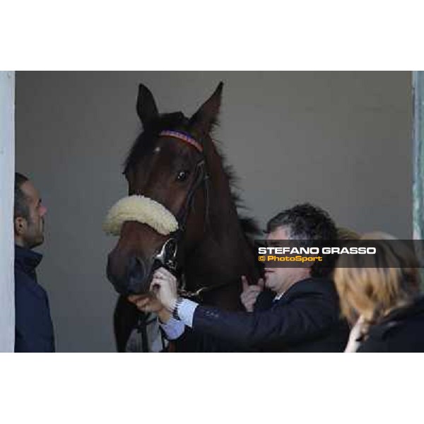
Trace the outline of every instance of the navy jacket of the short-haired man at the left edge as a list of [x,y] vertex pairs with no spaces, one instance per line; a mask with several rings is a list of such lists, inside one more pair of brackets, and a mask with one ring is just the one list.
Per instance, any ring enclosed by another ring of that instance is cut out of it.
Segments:
[[15,246],[15,352],[54,352],[49,300],[35,273],[41,259]]

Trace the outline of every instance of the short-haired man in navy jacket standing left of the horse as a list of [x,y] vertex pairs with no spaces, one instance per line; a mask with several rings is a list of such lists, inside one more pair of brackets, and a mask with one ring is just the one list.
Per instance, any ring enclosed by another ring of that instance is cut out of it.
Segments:
[[33,248],[44,241],[47,208],[30,180],[15,174],[15,352],[54,352],[49,300],[37,283],[42,255]]

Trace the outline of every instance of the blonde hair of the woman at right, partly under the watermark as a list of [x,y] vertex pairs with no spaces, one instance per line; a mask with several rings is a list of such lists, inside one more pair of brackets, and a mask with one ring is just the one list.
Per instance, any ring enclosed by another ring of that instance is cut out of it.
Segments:
[[389,234],[370,232],[355,245],[376,247],[376,254],[339,257],[334,281],[341,312],[351,322],[360,314],[368,324],[375,324],[419,293],[418,260],[403,242],[396,240],[395,245],[393,240]]

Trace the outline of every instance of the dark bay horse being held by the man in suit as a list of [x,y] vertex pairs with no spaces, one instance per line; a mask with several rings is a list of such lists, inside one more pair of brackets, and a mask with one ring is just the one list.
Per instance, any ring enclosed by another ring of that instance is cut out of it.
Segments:
[[[184,281],[187,295],[227,310],[242,310],[240,276],[247,276],[249,283],[259,278],[249,239],[257,227],[238,216],[240,199],[232,189],[232,172],[211,139],[222,90],[220,83],[187,118],[182,112],[159,114],[151,91],[139,86],[136,111],[143,131],[124,164],[128,194],[164,206],[175,216],[178,230],[161,234],[132,218],[120,227],[119,241],[107,260],[107,277],[120,294],[114,312],[118,351],[125,351],[132,329],[144,319],[126,297],[149,292],[160,254],[175,256],[173,271]],[[198,350],[177,346],[177,351],[187,349]]]

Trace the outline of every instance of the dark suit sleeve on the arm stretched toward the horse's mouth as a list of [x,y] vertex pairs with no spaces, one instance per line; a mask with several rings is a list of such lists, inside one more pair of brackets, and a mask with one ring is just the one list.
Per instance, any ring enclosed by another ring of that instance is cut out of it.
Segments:
[[334,301],[316,291],[261,312],[199,306],[194,312],[193,329],[243,346],[260,347],[276,341],[296,343],[315,338],[337,319]]

